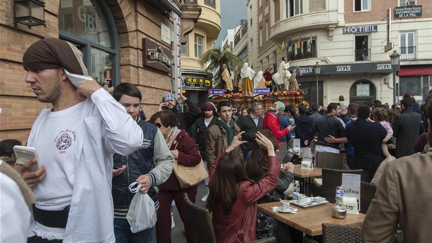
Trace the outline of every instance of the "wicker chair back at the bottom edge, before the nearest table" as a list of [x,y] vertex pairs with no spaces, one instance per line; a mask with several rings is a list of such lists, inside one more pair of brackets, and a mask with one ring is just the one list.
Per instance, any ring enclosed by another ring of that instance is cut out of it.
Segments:
[[363,243],[360,227],[323,223],[323,243]]

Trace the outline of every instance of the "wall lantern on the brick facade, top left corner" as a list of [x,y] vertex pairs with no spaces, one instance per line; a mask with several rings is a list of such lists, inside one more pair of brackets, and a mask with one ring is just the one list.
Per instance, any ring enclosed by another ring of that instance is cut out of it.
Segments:
[[14,24],[17,23],[31,28],[32,26],[45,26],[44,0],[14,0]]

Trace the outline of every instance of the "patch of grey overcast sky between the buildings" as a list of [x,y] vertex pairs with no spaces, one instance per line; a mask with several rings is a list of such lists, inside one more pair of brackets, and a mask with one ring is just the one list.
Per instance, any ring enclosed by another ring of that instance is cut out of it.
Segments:
[[220,22],[222,27],[215,47],[222,46],[222,40],[225,38],[227,29],[236,27],[239,20],[246,18],[246,0],[220,0]]

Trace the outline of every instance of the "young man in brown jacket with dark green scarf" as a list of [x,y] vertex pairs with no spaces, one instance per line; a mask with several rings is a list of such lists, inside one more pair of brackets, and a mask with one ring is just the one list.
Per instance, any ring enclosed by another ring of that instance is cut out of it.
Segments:
[[[231,144],[233,137],[240,133],[240,128],[232,118],[233,109],[228,101],[217,104],[219,118],[206,133],[206,160],[210,167],[216,158]],[[242,150],[237,152],[243,156]]]

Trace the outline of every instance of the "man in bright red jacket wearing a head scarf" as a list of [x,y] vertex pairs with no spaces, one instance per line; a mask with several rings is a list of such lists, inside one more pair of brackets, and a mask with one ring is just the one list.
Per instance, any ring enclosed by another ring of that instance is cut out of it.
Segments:
[[269,113],[264,117],[264,123],[263,123],[263,129],[269,129],[271,134],[273,134],[274,137],[277,139],[278,144],[278,150],[280,146],[280,138],[283,136],[286,136],[290,131],[292,131],[295,127],[294,126],[288,126],[287,128],[280,130],[280,123],[279,119],[277,118],[277,113],[279,110],[284,110],[285,105],[280,102],[276,101],[272,107],[270,107]]

